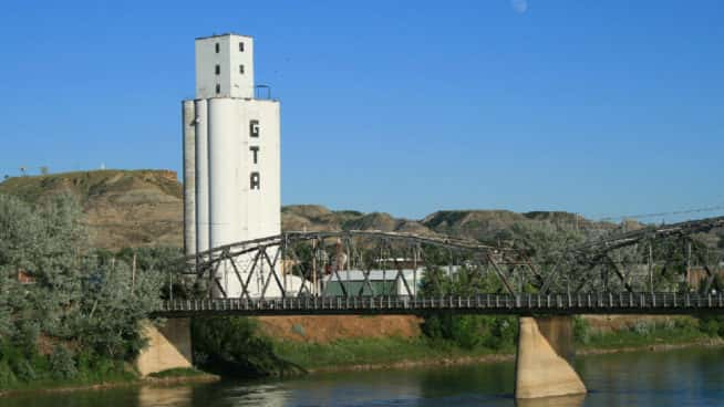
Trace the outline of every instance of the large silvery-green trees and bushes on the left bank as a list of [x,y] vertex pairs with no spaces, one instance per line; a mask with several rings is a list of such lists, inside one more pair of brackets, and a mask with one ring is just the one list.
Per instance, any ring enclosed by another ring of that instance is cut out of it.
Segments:
[[163,276],[89,247],[70,196],[0,195],[0,389],[136,378]]

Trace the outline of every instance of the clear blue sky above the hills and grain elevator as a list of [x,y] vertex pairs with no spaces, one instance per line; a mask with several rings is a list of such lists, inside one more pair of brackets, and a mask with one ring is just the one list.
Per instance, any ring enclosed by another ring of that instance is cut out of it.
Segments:
[[717,206],[723,21],[717,0],[6,0],[0,173],[180,170],[194,38],[235,31],[282,103],[286,205]]

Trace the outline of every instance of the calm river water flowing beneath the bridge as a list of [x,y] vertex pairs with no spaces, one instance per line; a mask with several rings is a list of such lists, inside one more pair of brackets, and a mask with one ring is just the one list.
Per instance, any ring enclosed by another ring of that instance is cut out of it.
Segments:
[[[724,349],[692,348],[579,357],[585,397],[519,404],[548,406],[722,406]],[[24,394],[0,407],[516,406],[513,363],[317,374],[293,379],[226,380]]]

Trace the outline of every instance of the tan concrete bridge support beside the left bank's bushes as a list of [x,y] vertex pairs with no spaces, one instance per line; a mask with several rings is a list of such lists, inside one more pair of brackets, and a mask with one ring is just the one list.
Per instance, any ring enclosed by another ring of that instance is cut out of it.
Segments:
[[143,335],[148,340],[148,344],[136,358],[136,368],[142,376],[172,368],[192,367],[190,319],[169,319],[164,326],[145,321]]

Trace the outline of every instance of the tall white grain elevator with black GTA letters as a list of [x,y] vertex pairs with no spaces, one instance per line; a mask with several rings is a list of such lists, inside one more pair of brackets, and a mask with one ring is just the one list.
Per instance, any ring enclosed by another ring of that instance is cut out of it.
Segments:
[[[196,98],[183,102],[183,121],[186,253],[279,234],[279,101],[255,98],[251,36],[196,39]],[[230,264],[218,276],[228,296],[239,296]],[[266,295],[278,296],[271,285]]]

